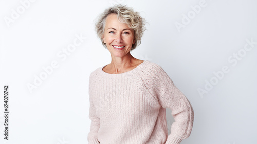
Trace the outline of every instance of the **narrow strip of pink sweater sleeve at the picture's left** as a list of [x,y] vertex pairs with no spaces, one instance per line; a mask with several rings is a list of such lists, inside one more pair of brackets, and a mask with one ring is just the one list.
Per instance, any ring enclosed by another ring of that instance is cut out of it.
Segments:
[[89,78],[89,118],[91,119],[90,132],[87,135],[87,140],[89,144],[99,144],[100,142],[97,139],[97,133],[100,127],[100,119],[96,115],[96,108],[93,105],[93,95],[91,94],[91,85],[90,81],[92,80],[91,75]]

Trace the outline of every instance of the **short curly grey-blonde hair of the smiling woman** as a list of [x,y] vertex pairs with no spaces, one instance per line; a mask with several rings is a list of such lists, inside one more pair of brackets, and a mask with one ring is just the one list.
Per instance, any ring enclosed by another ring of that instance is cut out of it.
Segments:
[[141,37],[143,36],[143,32],[146,30],[144,27],[145,19],[142,18],[138,12],[134,12],[132,8],[126,7],[126,5],[122,6],[119,4],[105,9],[105,11],[99,15],[95,26],[97,37],[101,39],[102,44],[106,49],[107,47],[103,42],[102,36],[104,34],[106,18],[109,14],[112,13],[117,14],[118,20],[120,22],[127,24],[129,28],[134,30],[135,43],[131,47],[131,50],[134,50],[141,44]]

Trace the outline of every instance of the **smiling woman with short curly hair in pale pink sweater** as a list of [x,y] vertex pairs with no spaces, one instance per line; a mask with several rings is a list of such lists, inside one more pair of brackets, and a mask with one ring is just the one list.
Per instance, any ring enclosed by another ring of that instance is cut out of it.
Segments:
[[[106,9],[96,23],[112,61],[89,78],[89,144],[180,143],[189,137],[194,113],[188,99],[163,69],[130,51],[140,44],[144,19],[126,6]],[[175,122],[168,136],[166,109]]]

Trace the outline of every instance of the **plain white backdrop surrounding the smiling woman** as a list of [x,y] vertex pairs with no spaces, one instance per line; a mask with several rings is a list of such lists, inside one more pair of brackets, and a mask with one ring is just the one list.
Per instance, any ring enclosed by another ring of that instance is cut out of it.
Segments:
[[[132,55],[160,65],[193,106],[193,130],[181,143],[256,143],[257,1],[24,1],[0,1],[0,143],[87,143],[89,74],[111,62],[94,20],[116,3],[133,7],[149,23]],[[197,13],[196,5],[203,6]],[[86,39],[64,55],[76,35]],[[255,42],[252,48],[247,39]],[[30,92],[27,85],[54,61],[58,67]],[[214,73],[224,66],[218,79]],[[205,88],[207,83],[212,87]],[[206,93],[200,96],[199,88]],[[167,110],[169,129],[172,122]]]

